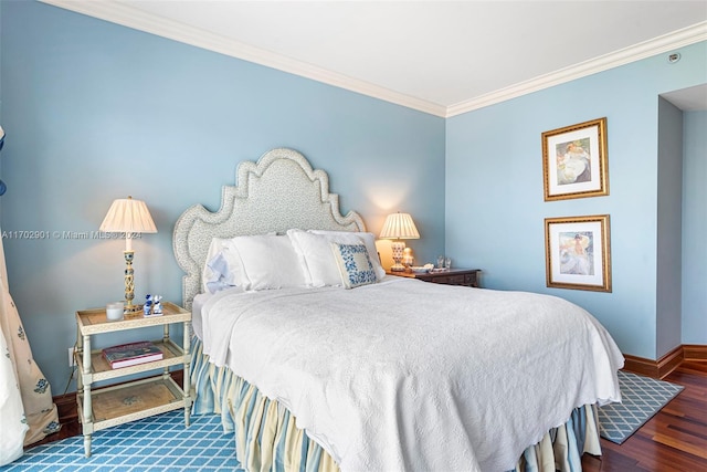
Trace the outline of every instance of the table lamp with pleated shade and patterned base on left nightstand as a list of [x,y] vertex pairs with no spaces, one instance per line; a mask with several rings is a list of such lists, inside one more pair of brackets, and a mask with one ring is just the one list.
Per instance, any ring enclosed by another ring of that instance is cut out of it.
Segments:
[[134,200],[133,197],[117,199],[101,223],[101,231],[125,233],[125,251],[123,251],[125,255],[125,303],[123,313],[126,315],[138,313],[141,307],[133,304],[133,298],[135,298],[133,237],[137,233],[157,232],[150,211],[144,201]]

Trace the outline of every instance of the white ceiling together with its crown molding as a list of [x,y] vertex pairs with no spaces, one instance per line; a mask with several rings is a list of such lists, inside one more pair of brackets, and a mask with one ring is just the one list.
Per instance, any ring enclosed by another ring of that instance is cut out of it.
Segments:
[[439,116],[707,40],[707,0],[43,1]]

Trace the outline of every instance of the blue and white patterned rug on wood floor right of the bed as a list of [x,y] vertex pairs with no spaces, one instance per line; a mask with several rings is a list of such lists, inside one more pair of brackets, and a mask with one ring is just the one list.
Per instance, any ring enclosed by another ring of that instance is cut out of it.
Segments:
[[685,387],[631,373],[619,371],[621,403],[599,408],[602,438],[621,444]]

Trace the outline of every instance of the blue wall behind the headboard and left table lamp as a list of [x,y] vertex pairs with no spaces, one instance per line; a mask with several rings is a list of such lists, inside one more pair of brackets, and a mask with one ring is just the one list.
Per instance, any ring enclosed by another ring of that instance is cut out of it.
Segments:
[[[423,237],[410,244],[418,258],[443,252],[444,119],[43,3],[0,10],[6,233],[95,231],[131,195],[159,231],[135,243],[136,297],[181,301],[179,214],[218,209],[240,161],[286,146],[329,172],[342,211],[369,230],[408,211]],[[34,358],[62,394],[75,311],[123,298],[124,242],[3,242]]]

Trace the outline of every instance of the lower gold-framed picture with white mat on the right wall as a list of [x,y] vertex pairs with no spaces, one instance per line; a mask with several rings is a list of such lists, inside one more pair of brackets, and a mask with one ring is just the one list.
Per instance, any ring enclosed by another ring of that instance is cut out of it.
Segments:
[[548,286],[611,292],[609,214],[545,219]]

